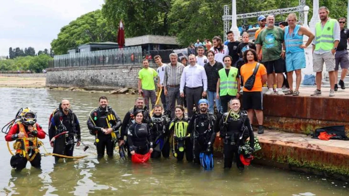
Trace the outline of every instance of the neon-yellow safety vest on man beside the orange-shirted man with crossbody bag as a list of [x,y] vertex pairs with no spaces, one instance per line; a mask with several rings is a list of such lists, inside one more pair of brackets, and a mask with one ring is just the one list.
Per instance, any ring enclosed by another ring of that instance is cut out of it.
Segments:
[[231,67],[229,70],[229,74],[227,77],[227,73],[225,73],[225,68],[222,68],[218,71],[220,77],[220,96],[231,95],[236,96],[238,91],[238,83],[236,81],[236,76],[238,75],[238,69],[235,67]]

